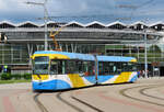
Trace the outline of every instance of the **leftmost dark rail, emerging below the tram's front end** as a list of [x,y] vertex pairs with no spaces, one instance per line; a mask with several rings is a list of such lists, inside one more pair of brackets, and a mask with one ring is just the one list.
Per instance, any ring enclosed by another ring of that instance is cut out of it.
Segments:
[[45,108],[45,105],[38,100],[38,97],[40,96],[42,93],[36,93],[33,99],[34,101],[36,102],[37,107],[39,108],[40,112],[48,112],[48,110]]

